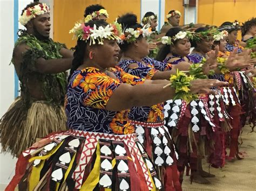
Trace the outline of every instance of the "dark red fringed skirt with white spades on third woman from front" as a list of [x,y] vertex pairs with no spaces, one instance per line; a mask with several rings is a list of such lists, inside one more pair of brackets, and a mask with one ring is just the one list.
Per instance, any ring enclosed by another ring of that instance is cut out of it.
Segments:
[[169,100],[164,106],[165,124],[179,151],[181,173],[188,165],[191,171],[197,171],[197,159],[214,153],[213,135],[218,126],[211,119],[207,100],[207,96],[189,104],[183,100]]

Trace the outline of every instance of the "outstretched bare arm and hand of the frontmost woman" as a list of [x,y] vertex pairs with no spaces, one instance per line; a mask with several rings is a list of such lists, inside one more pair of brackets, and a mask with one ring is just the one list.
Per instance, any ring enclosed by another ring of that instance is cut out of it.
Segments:
[[[159,81],[160,82],[160,81]],[[175,89],[172,87],[164,88],[170,81],[163,81],[163,83],[143,83],[131,86],[126,83],[113,91],[106,104],[106,109],[111,111],[121,111],[132,107],[151,106],[157,103],[170,100],[175,96]],[[212,93],[209,89],[212,86],[224,86],[226,82],[218,80],[193,80],[191,81],[191,93]]]

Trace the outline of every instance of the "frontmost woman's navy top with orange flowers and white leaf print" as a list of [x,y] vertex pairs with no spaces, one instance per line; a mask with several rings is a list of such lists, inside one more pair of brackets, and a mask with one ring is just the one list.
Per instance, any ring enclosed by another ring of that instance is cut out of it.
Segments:
[[115,67],[109,70],[113,79],[94,67],[76,70],[68,84],[65,110],[70,129],[109,134],[131,134],[134,126],[127,121],[129,110],[109,111],[106,104],[122,83],[136,85],[145,80]]

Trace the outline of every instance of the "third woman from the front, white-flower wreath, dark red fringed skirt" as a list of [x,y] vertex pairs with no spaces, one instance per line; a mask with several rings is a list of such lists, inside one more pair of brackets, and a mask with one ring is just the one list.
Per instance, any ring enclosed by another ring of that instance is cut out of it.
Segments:
[[[170,38],[171,40],[169,40],[169,43],[167,41],[167,44],[160,49],[157,59],[164,60],[165,63],[171,63],[185,71],[188,71],[192,64],[199,63],[199,59],[188,55],[191,48],[189,34],[192,33],[182,31],[177,27],[170,29],[164,38]],[[205,112],[208,111],[206,99],[202,96],[197,102],[192,101],[187,106],[184,103],[185,101],[182,105],[175,102],[167,102],[165,105],[165,122],[169,129],[172,129],[172,136],[180,151],[178,168],[181,172],[181,179],[185,166],[190,164],[191,180],[193,179],[198,183],[210,183],[205,178],[214,177],[214,175],[203,171],[201,166],[201,158],[206,154],[205,148],[207,148],[210,155],[209,162],[211,164],[217,163],[215,156],[213,159],[214,152],[211,140],[215,135],[213,131],[217,130],[217,125],[211,122],[210,113]],[[175,119],[174,114],[179,116],[178,120]],[[208,141],[206,141],[207,139]]]

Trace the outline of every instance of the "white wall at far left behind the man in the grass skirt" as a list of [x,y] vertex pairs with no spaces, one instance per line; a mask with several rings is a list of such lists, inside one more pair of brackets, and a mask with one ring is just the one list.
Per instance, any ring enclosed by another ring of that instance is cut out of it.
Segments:
[[[18,25],[17,16],[21,15],[22,9],[30,2],[31,0],[0,0],[0,118],[14,101],[15,88],[18,88],[14,66],[9,63],[15,43],[15,25],[19,29],[22,27]],[[0,154],[0,190],[3,190],[14,175],[16,160],[9,153]]]

